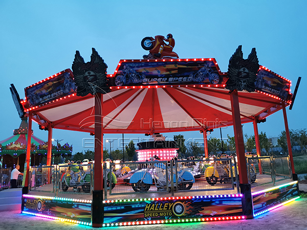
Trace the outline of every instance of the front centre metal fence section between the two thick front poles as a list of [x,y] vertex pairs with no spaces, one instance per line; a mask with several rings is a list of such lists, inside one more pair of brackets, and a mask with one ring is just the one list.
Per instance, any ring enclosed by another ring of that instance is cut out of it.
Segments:
[[[118,167],[116,172],[110,173],[115,167]],[[117,172],[121,175],[116,178]],[[239,189],[234,158],[111,163],[104,165],[104,175],[107,175],[105,198],[136,193],[169,192],[173,196],[178,192]]]

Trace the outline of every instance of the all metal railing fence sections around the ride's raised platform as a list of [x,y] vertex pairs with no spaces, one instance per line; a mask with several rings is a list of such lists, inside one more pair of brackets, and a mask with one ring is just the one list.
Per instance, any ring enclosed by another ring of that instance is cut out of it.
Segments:
[[[246,157],[252,187],[291,179],[288,156]],[[128,163],[105,163],[104,198],[112,195],[144,193],[190,193],[237,190],[238,170],[235,157],[195,160],[171,160]],[[1,174],[0,174],[1,176]],[[22,176],[18,177],[21,187]],[[92,194],[95,189],[94,165],[60,165],[32,167],[31,191],[61,194]],[[2,169],[1,189],[9,188],[10,169]]]

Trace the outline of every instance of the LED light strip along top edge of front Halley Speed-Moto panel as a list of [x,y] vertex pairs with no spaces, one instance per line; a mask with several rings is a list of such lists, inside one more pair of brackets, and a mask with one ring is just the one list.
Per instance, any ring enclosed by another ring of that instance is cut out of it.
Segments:
[[104,200],[103,203],[114,202],[136,202],[136,201],[155,201],[155,200],[179,200],[179,199],[207,199],[207,198],[225,198],[225,197],[243,197],[243,194],[228,194],[228,195],[209,195],[209,196],[177,196],[177,197],[160,197],[160,198],[144,198],[144,199],[124,199],[124,200]]

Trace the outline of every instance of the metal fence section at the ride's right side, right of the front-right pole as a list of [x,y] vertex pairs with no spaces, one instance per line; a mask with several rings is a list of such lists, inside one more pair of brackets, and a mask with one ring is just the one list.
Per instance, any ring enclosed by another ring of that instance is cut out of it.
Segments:
[[247,156],[246,164],[252,187],[292,178],[289,156]]

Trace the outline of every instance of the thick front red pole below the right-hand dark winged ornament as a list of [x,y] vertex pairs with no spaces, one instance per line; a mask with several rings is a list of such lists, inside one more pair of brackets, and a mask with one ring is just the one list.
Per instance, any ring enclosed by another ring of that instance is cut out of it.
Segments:
[[240,107],[238,91],[235,89],[230,94],[232,122],[234,130],[235,148],[238,159],[239,181],[242,184],[248,184],[246,160],[245,160],[245,148],[244,139],[240,118]]

